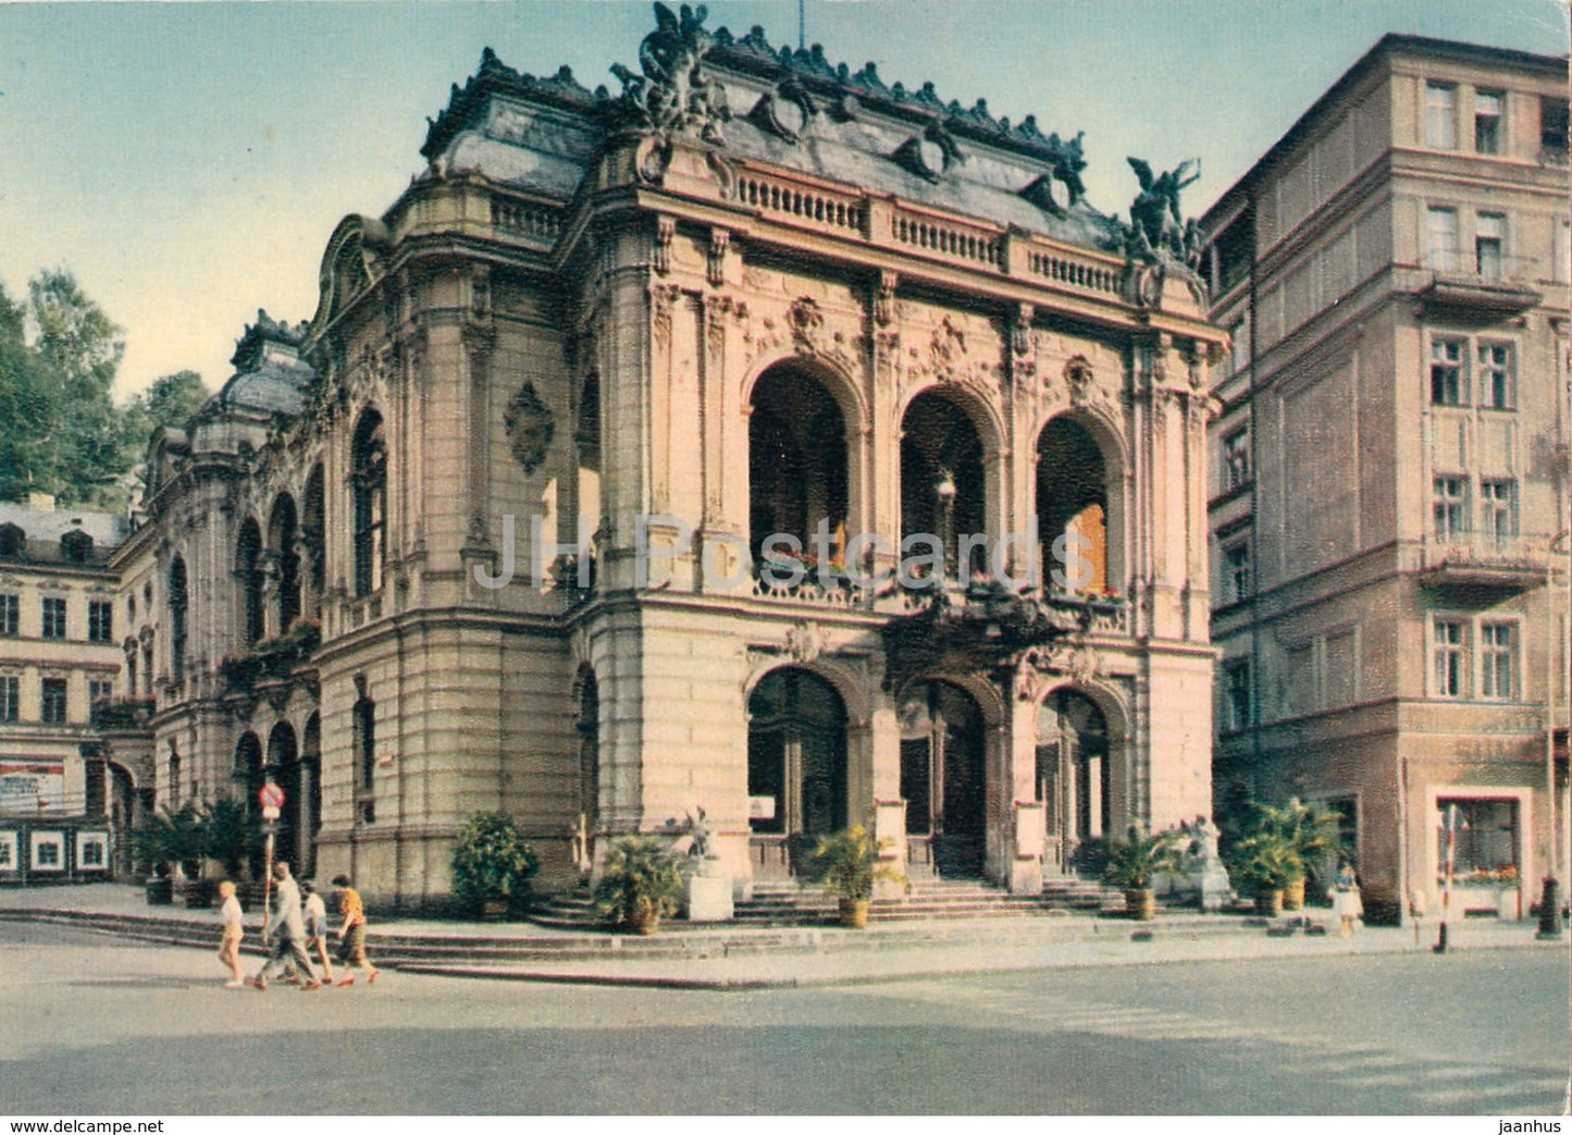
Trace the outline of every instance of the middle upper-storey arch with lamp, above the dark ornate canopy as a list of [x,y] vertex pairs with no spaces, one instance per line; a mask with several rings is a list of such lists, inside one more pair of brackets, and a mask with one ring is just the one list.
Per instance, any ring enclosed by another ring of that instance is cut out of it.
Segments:
[[[987,569],[982,547],[959,560],[964,536],[987,533],[982,440],[971,418],[949,398],[921,393],[901,417],[901,539],[935,538],[946,575]],[[915,555],[921,555],[918,549]]]

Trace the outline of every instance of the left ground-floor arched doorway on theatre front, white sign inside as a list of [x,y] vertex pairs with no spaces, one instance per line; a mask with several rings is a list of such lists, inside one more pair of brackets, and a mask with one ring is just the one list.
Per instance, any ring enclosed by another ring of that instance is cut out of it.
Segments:
[[786,667],[753,687],[748,797],[755,841],[778,852],[756,857],[764,874],[795,872],[846,827],[846,703],[817,674]]

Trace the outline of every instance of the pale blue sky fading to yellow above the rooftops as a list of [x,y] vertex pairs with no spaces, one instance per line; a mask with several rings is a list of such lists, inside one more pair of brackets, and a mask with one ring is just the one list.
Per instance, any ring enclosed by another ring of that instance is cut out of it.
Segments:
[[[709,25],[795,42],[795,0],[714,0]],[[808,41],[885,82],[1086,130],[1091,201],[1127,154],[1201,157],[1199,214],[1385,31],[1567,52],[1561,0],[808,0]],[[637,64],[645,0],[5,3],[0,281],[64,266],[126,329],[119,388],[217,388],[258,307],[307,319],[322,247],[420,171],[426,118],[492,46],[588,86]]]

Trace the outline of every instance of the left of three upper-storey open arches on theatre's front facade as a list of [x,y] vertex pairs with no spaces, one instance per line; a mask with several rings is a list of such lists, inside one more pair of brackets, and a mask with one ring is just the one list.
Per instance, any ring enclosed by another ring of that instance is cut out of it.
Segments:
[[810,374],[770,368],[753,387],[748,415],[748,545],[755,561],[769,536],[814,549],[821,525],[830,558],[846,550],[846,420]]

